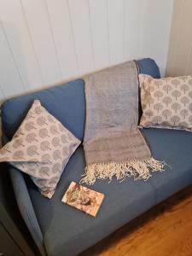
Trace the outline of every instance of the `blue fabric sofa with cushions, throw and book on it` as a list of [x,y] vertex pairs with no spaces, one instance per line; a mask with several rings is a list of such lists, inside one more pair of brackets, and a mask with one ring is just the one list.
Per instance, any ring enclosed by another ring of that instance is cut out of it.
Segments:
[[[139,73],[160,77],[151,59],[137,61]],[[3,143],[14,135],[34,99],[39,99],[62,124],[80,140],[84,137],[84,80],[19,96],[4,102]],[[84,172],[84,150],[80,146],[69,160],[51,200],[44,198],[30,177],[9,166],[15,199],[22,218],[41,255],[76,255],[108,236],[120,226],[147,211],[168,196],[192,183],[192,133],[163,129],[143,129],[154,158],[166,160],[172,169],[153,173],[147,181],[126,178],[123,183],[97,180],[91,187],[105,195],[96,218],[61,202],[71,181]]]

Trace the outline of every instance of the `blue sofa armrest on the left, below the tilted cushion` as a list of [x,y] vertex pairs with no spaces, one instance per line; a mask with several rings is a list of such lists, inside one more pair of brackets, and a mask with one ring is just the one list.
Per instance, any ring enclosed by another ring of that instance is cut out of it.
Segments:
[[[5,135],[3,135],[2,141],[3,144],[5,144],[9,140]],[[23,174],[13,166],[8,166],[8,170],[11,182],[13,184],[15,200],[17,206],[19,207],[20,214],[24,219],[26,226],[32,235],[33,240],[35,241],[39,252],[42,255],[46,255],[44,250],[44,238],[38,224],[38,219],[32,206],[32,201],[28,193]]]

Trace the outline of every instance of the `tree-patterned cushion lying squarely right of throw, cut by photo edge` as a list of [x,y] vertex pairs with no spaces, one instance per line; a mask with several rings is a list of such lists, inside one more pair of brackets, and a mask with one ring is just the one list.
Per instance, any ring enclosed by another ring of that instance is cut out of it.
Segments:
[[143,116],[140,127],[192,131],[192,76],[153,79],[139,75]]

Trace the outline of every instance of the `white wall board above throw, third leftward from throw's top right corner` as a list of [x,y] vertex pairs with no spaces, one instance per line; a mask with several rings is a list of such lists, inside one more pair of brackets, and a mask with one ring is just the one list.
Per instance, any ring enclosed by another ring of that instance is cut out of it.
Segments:
[[90,26],[96,69],[109,65],[108,0],[89,0]]

